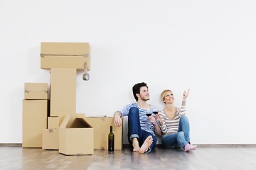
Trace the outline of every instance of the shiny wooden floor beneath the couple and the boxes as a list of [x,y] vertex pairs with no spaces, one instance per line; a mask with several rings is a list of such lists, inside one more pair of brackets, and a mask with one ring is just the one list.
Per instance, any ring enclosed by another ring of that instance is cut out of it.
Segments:
[[198,147],[182,149],[157,147],[139,155],[129,147],[122,151],[95,150],[95,154],[65,156],[58,150],[0,147],[0,169],[256,169],[256,147]]

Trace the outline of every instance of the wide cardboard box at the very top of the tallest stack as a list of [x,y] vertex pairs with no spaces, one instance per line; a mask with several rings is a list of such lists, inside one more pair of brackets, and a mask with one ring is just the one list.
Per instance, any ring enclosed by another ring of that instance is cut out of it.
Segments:
[[75,68],[90,70],[88,42],[41,42],[41,69]]

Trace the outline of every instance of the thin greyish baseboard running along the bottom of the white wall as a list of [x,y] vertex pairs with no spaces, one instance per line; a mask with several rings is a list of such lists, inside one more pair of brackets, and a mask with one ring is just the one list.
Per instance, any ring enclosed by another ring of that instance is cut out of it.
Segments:
[[[198,147],[256,147],[256,144],[193,144]],[[22,147],[22,143],[0,143],[0,147]],[[129,144],[123,144],[123,147],[131,147]],[[163,147],[157,144],[156,147]]]

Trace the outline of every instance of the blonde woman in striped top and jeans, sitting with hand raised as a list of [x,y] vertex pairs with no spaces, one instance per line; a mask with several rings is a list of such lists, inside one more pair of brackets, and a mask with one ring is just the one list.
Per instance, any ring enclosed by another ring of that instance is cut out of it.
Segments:
[[196,149],[196,145],[191,145],[189,137],[189,122],[185,115],[186,98],[188,93],[184,91],[181,108],[174,106],[174,94],[167,89],[161,93],[161,98],[166,104],[166,108],[156,115],[156,120],[160,123],[161,142],[166,148],[183,148],[185,152]]

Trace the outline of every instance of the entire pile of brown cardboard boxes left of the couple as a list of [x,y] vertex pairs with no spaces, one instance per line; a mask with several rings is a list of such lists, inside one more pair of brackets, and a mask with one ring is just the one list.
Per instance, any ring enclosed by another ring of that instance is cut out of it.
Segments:
[[[114,127],[113,118],[87,118],[85,114],[76,114],[76,74],[78,70],[90,70],[89,43],[42,42],[41,69],[50,69],[50,107],[47,84],[36,90],[25,84],[23,147],[58,149],[67,155],[93,154],[94,149],[107,149],[107,134],[112,125],[114,147],[122,149],[122,128]],[[31,94],[28,91],[34,94],[29,98],[33,101],[29,106],[26,96]],[[45,96],[36,98],[35,95],[42,95],[38,91],[44,91]],[[35,142],[31,137],[35,127],[38,144],[31,145],[30,142]]]

